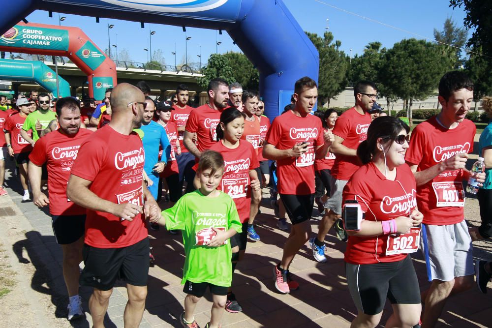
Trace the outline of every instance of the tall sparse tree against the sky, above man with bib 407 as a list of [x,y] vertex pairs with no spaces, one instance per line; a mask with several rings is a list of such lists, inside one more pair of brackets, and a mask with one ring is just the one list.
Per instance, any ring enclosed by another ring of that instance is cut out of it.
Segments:
[[[464,27],[457,27],[451,18],[446,18],[442,31],[434,29],[434,38],[440,43],[443,50],[443,55],[453,60],[454,69],[458,69],[463,64],[464,60],[461,59],[461,50],[466,42],[466,36],[468,30]],[[453,47],[451,47],[453,46]],[[456,47],[456,48],[455,48]]]

